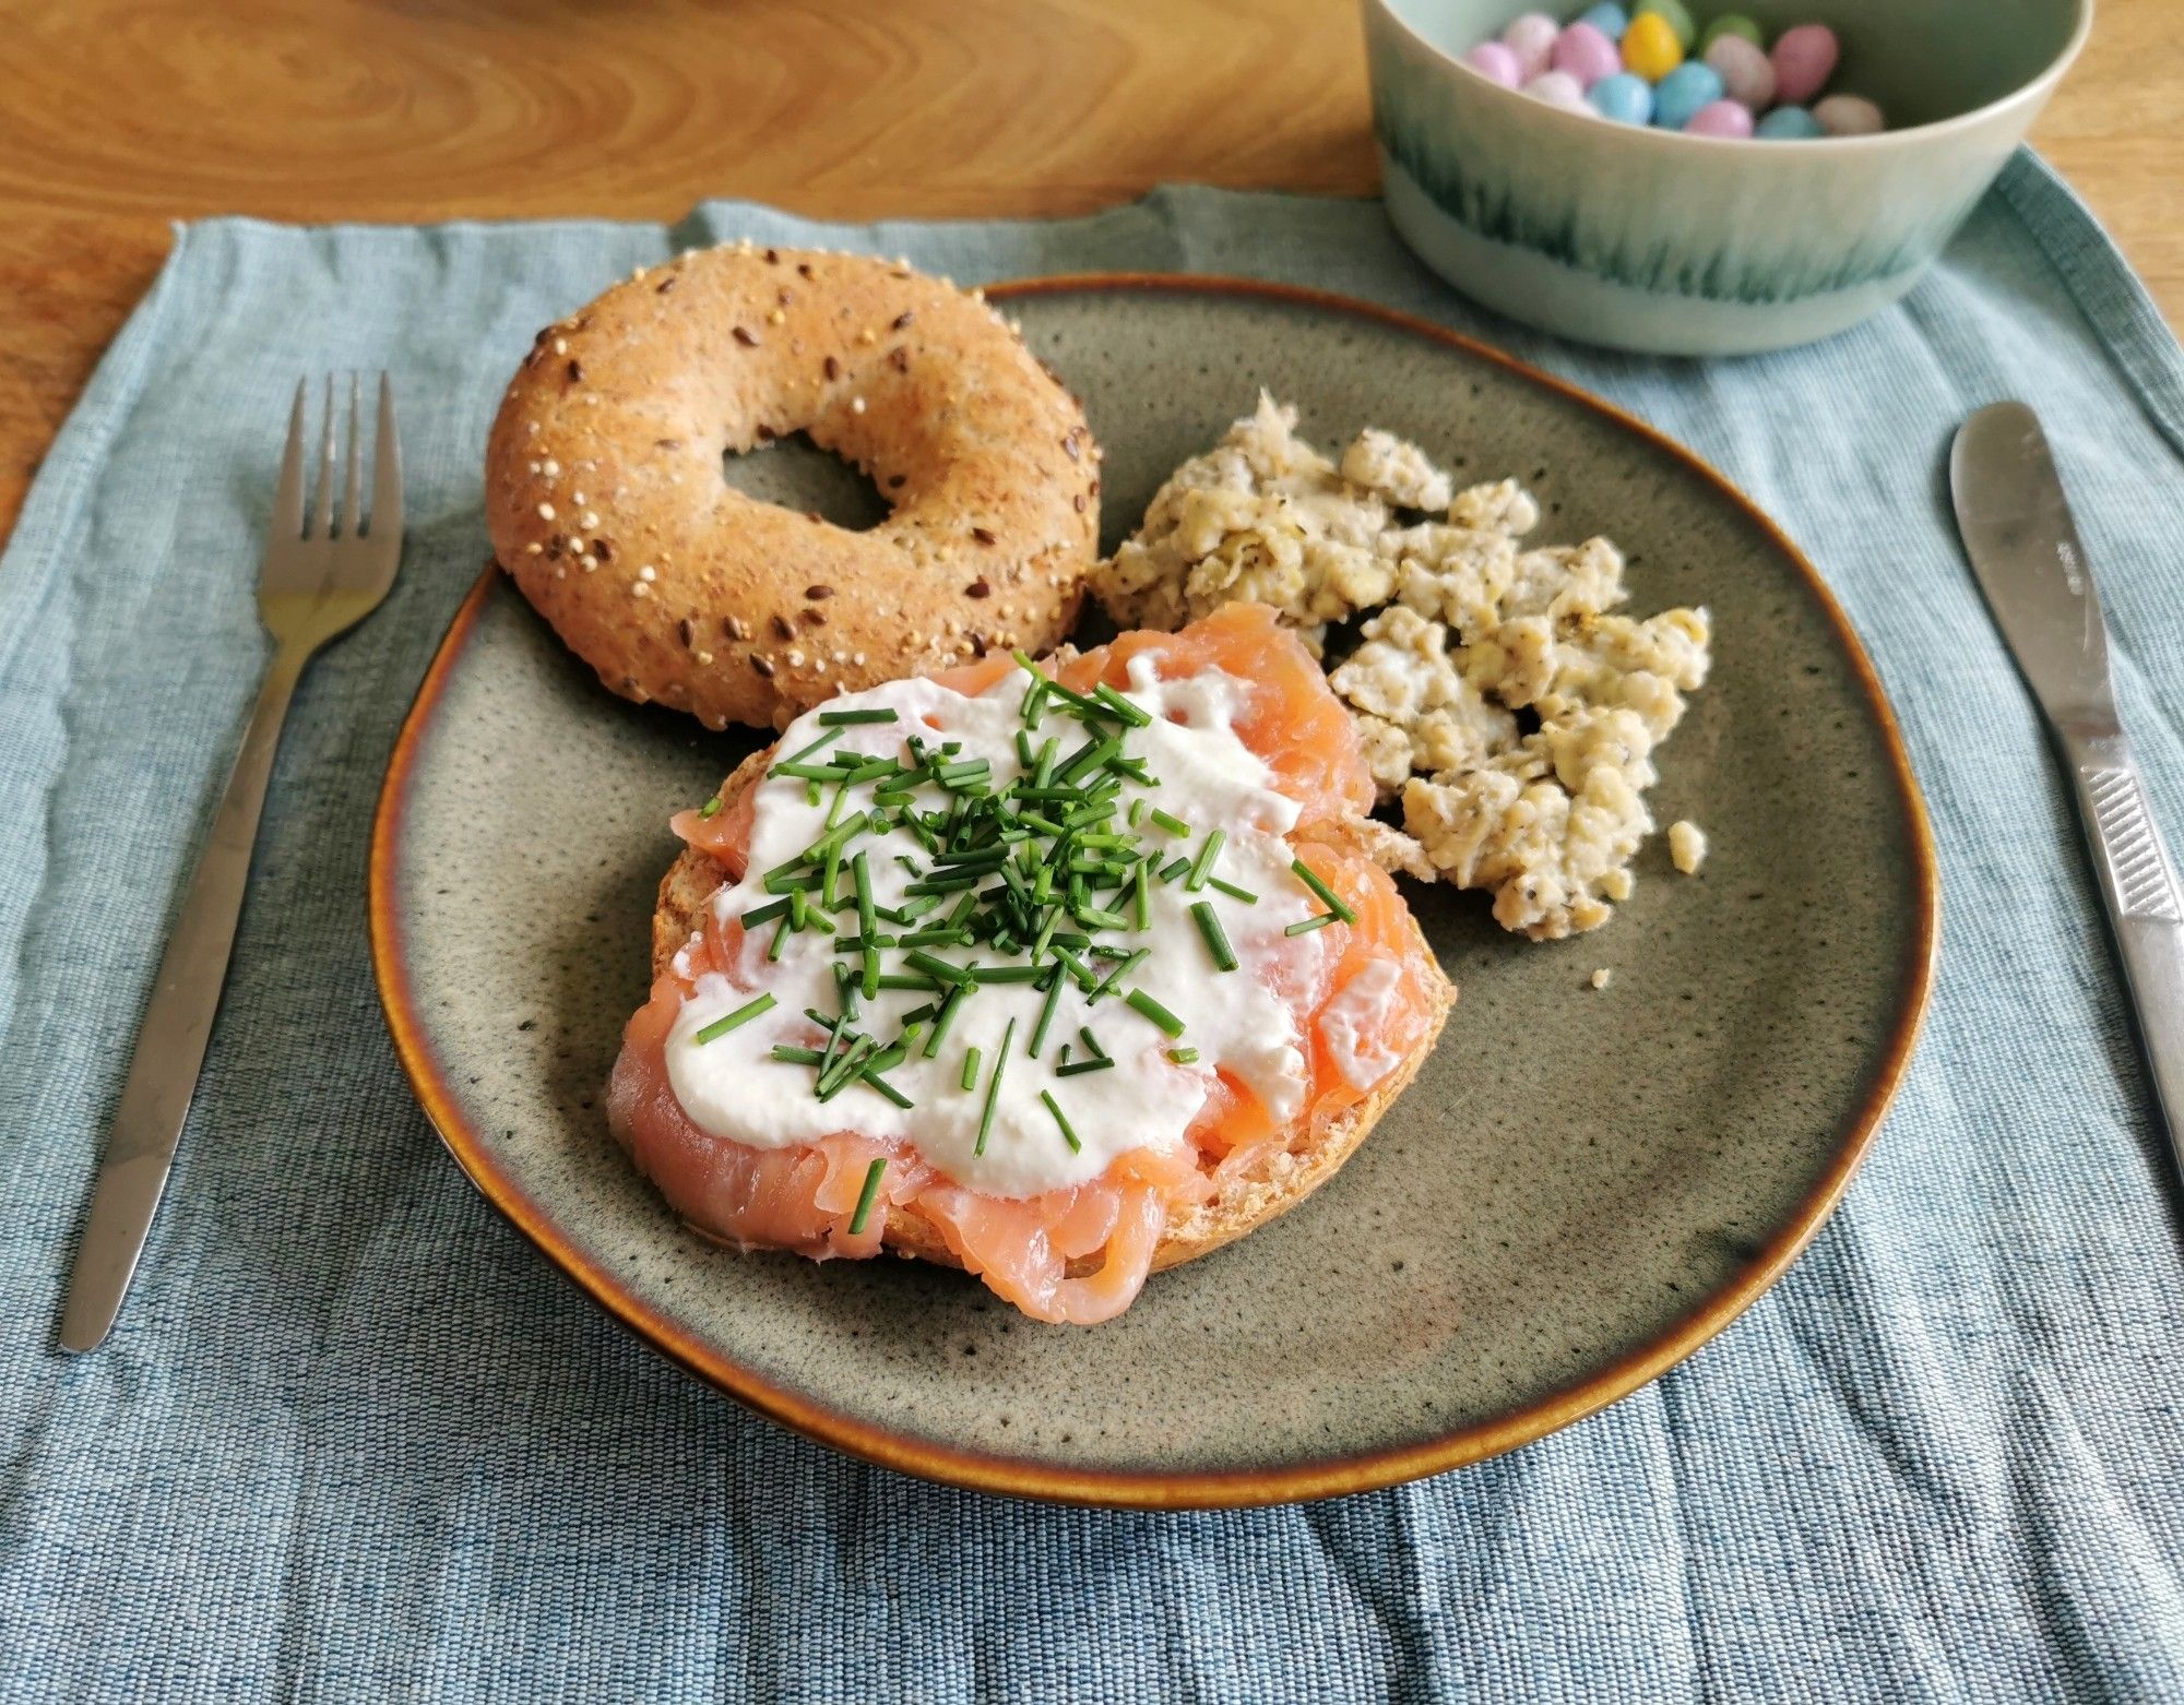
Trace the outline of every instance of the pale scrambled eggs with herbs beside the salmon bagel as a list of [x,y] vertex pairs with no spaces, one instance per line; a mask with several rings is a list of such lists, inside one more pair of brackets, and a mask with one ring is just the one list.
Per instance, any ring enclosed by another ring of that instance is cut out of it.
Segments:
[[[1420,511],[1441,520],[1404,522]],[[1706,681],[1710,633],[1704,609],[1612,613],[1623,555],[1607,539],[1522,550],[1538,524],[1516,480],[1459,491],[1387,432],[1328,461],[1295,408],[1260,395],[1175,469],[1094,592],[1131,627],[1273,605],[1319,657],[1332,624],[1367,616],[1330,683],[1382,801],[1402,806],[1406,834],[1376,856],[1487,889],[1503,928],[1553,941],[1631,893],[1653,751]],[[1682,869],[1704,856],[1690,836],[1675,836]]]

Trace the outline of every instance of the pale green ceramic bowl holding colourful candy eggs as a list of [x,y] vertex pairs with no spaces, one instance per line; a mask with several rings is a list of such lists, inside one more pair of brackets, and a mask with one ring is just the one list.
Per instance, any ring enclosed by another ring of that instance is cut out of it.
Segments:
[[[1904,295],[2022,140],[2090,0],[1723,0],[1769,39],[1826,22],[1830,90],[1898,129],[1725,142],[1612,124],[1507,90],[1461,55],[1538,0],[1365,0],[1389,218],[1441,277],[1583,343],[1784,349]],[[1577,15],[1577,0],[1553,7]]]

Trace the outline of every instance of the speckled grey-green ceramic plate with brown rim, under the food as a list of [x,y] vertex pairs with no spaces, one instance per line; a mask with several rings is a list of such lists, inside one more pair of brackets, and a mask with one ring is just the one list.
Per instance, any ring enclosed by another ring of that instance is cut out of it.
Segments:
[[[380,799],[371,928],[395,1044],[476,1185],[673,1360],[891,1467],[1107,1504],[1389,1485],[1564,1426],[1690,1354],[1841,1194],[1911,1052],[1935,943],[1924,812],[1874,672],[1789,541],[1688,454],[1439,330],[1177,279],[1016,293],[1107,448],[1107,544],[1260,386],[1321,441],[1417,439],[1520,474],[1540,539],[1610,533],[1636,609],[1712,605],[1717,664],[1636,897],[1559,945],[1411,891],[1461,987],[1439,1050],[1308,1203],[1155,1275],[1118,1321],[1037,1325],[959,1273],[734,1255],[666,1212],[601,1085],[646,987],[668,814],[749,751],[612,699],[494,574]],[[808,502],[817,454],[751,456]],[[834,469],[839,476],[839,469]],[[830,511],[832,513],[832,511]],[[1607,965],[1614,982],[1590,987]]]

